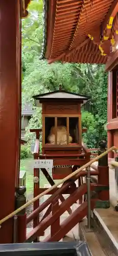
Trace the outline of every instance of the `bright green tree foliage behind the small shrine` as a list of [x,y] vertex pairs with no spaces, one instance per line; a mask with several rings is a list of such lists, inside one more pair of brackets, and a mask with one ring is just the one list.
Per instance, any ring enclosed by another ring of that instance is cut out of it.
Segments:
[[[87,127],[84,140],[89,147],[98,147],[106,139],[104,125],[107,122],[107,73],[103,65],[56,62],[51,65],[40,60],[43,40],[43,3],[31,1],[29,16],[22,20],[22,107],[33,95],[55,91],[59,84],[64,90],[83,93],[90,100],[82,110],[82,125]],[[36,108],[27,128],[41,127],[41,110]]]

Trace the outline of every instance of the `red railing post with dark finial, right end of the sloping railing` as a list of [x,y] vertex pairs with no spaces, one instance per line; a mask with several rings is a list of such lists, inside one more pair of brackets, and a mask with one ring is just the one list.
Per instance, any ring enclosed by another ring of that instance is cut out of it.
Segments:
[[[100,151],[99,155],[106,151],[106,142],[100,142]],[[99,191],[99,199],[98,201],[98,208],[109,208],[110,201],[109,201],[109,166],[108,166],[108,155],[105,155],[98,161],[98,185],[100,188]]]

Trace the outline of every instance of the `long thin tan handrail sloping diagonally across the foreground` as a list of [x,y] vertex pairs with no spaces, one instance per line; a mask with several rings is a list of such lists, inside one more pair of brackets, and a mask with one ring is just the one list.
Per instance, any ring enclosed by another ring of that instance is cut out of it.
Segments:
[[57,184],[53,185],[52,187],[46,189],[45,191],[43,191],[41,194],[39,194],[37,197],[33,198],[32,200],[30,200],[29,202],[27,202],[26,204],[22,205],[20,208],[14,210],[13,212],[11,212],[11,214],[9,214],[8,216],[6,216],[5,218],[3,218],[2,220],[0,220],[0,225],[2,223],[4,223],[5,221],[9,220],[10,218],[12,218],[13,216],[17,215],[19,211],[25,209],[26,207],[28,207],[30,204],[34,203],[35,201],[37,201],[39,198],[43,197],[44,195],[48,194],[51,190],[53,190],[54,188],[56,188],[57,186],[59,186],[60,184],[64,183],[65,181],[69,180],[70,178],[74,177],[76,174],[80,173],[81,170],[83,170],[84,168],[87,168],[88,166],[90,166],[92,163],[98,161],[100,158],[104,157],[105,155],[107,155],[109,152],[111,151],[115,151],[117,153],[117,148],[115,146],[112,146],[111,148],[109,148],[107,151],[105,151],[104,153],[102,153],[101,155],[93,158],[92,160],[90,160],[88,163],[84,164],[83,166],[81,166],[80,168],[78,168],[77,170],[75,170],[75,172],[73,172],[72,174],[69,174],[67,177],[65,177],[64,179],[62,179],[61,181],[59,181]]

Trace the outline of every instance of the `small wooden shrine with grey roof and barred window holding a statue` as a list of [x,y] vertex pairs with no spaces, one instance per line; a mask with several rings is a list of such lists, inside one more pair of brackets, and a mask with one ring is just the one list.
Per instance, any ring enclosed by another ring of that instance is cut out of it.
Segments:
[[34,96],[42,105],[42,156],[54,159],[53,178],[62,179],[89,159],[82,154],[81,105],[89,97],[58,91]]

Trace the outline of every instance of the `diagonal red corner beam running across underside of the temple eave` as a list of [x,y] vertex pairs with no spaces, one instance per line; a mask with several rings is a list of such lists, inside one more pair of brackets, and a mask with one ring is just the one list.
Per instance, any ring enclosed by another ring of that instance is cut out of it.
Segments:
[[55,62],[55,61],[58,61],[60,59],[62,59],[62,57],[64,57],[65,55],[70,55],[72,54],[75,50],[79,50],[81,47],[83,47],[84,45],[87,44],[87,42],[89,41],[89,38],[87,37],[78,47],[74,47],[72,50],[66,50],[64,53],[62,53],[61,55],[57,56],[56,58],[53,58],[53,59],[50,59],[48,61],[49,64]]

